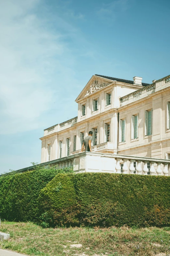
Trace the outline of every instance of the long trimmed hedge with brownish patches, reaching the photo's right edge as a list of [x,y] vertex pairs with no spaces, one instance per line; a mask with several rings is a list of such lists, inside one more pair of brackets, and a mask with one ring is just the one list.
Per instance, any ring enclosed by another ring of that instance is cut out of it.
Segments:
[[170,225],[170,177],[59,174],[41,191],[39,207],[41,221],[54,226]]

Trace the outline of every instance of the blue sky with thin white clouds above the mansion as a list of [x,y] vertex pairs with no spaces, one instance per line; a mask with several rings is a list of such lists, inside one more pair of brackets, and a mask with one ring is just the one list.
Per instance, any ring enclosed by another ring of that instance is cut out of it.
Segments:
[[77,116],[99,74],[170,74],[169,0],[0,0],[0,173],[40,163],[45,128]]

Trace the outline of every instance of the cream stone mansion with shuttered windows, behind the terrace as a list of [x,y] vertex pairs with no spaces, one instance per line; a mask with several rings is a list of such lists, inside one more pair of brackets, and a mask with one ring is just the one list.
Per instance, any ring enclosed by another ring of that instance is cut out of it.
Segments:
[[44,130],[41,163],[78,154],[90,130],[93,152],[170,158],[170,76],[146,84],[94,75],[76,102],[77,117]]

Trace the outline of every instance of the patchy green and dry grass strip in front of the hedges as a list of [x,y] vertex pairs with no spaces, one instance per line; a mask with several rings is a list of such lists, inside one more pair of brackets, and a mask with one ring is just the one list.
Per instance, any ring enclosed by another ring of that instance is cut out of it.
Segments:
[[28,255],[170,256],[170,227],[43,229],[31,222],[1,222],[0,231],[10,234],[0,248]]

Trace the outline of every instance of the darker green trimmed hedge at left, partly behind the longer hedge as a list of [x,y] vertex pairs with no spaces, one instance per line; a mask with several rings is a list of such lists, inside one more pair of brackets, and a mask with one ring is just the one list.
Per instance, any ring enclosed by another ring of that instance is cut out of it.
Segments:
[[0,177],[0,217],[9,221],[37,220],[39,217],[38,196],[58,173],[72,172],[72,169],[45,169],[39,165],[35,170],[20,174],[12,173]]

